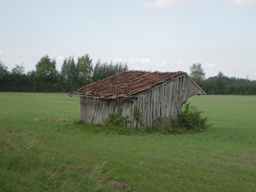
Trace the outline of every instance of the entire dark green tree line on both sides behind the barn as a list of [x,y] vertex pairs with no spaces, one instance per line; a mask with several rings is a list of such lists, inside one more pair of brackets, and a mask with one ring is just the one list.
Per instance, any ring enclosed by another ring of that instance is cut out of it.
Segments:
[[[190,76],[208,94],[256,95],[256,81],[227,77],[221,71],[205,78],[201,63],[193,63]],[[77,58],[65,58],[61,70],[56,69],[55,58],[44,55],[36,64],[36,70],[25,74],[23,64],[16,65],[10,71],[0,60],[0,91],[8,92],[73,92],[87,84],[104,79],[121,71],[128,70],[127,63],[110,63],[98,60],[92,65],[88,54]]]

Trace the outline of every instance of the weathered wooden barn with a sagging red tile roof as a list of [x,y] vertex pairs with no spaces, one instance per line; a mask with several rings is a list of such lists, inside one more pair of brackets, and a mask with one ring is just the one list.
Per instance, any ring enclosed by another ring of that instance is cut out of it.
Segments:
[[69,96],[80,97],[79,119],[102,124],[119,107],[128,127],[152,126],[158,117],[177,117],[189,97],[206,92],[187,73],[127,70],[86,85]]

